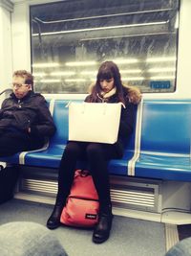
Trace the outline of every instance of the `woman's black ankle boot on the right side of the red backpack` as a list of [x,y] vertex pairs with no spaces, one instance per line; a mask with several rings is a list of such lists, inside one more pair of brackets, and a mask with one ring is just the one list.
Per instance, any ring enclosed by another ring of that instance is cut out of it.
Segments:
[[93,233],[93,242],[101,244],[108,240],[112,228],[113,214],[100,213],[98,223]]

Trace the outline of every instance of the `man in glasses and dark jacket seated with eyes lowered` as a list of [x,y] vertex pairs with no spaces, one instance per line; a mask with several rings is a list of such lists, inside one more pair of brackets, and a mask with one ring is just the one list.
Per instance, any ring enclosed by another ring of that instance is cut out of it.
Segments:
[[0,109],[0,156],[39,149],[55,132],[44,97],[32,91],[32,74],[15,71],[12,86],[13,92]]

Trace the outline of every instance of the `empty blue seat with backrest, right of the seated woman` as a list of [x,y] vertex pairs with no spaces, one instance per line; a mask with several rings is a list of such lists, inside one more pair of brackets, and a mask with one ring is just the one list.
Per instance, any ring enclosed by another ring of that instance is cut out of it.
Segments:
[[135,175],[191,181],[191,102],[146,101]]

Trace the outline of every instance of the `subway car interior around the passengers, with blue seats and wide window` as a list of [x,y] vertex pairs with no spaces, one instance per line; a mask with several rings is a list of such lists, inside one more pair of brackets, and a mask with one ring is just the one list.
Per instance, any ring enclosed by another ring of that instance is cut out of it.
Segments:
[[0,102],[14,70],[32,71],[57,126],[43,149],[0,158],[2,168],[19,167],[0,225],[46,226],[68,138],[65,106],[83,102],[98,64],[110,59],[142,92],[127,151],[109,165],[111,237],[93,244],[92,229],[64,225],[53,235],[69,256],[164,256],[191,237],[190,12],[190,0],[0,0]]

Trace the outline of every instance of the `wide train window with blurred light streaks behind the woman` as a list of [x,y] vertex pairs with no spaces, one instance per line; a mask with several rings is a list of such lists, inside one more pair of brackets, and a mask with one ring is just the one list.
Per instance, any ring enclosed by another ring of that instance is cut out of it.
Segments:
[[31,6],[41,93],[86,93],[104,60],[142,92],[174,92],[180,0],[66,0]]

